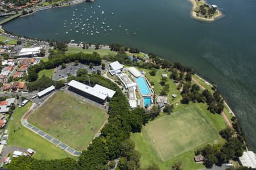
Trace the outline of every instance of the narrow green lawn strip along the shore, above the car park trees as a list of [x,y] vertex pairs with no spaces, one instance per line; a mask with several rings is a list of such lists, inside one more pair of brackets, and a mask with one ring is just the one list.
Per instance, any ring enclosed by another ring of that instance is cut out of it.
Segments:
[[66,54],[76,54],[79,52],[83,52],[83,53],[93,53],[93,52],[97,52],[98,54],[100,54],[101,57],[106,56],[106,55],[112,55],[114,56],[116,53],[112,52],[110,50],[106,50],[106,49],[82,49],[81,47],[68,47],[67,52],[65,52]]

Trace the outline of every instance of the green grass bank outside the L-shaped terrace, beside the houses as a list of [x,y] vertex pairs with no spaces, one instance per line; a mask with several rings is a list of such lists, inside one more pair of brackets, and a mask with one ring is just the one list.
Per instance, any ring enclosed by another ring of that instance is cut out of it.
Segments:
[[[20,119],[23,114],[28,111],[32,103],[27,103],[24,107],[16,107],[13,113],[13,120],[10,120],[8,125],[9,130],[9,146],[20,146],[24,148],[32,148],[36,151],[34,158],[36,159],[60,159],[65,158],[66,155],[59,147],[52,145],[52,143],[46,141],[39,135],[36,135],[32,131],[28,130],[20,124]],[[20,129],[18,128],[18,126]],[[77,159],[74,156],[71,156]]]

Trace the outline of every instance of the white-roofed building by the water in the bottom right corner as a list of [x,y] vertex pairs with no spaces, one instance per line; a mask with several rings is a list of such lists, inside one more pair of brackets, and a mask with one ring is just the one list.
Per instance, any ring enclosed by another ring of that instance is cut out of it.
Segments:
[[239,157],[239,161],[243,167],[256,168],[256,155],[253,151],[243,152],[243,155]]

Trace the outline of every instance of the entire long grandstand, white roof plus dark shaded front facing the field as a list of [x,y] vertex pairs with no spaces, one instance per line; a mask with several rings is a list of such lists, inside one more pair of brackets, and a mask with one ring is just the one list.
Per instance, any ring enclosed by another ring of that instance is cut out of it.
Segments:
[[115,91],[98,84],[94,87],[90,87],[86,84],[77,82],[76,80],[71,80],[71,82],[68,83],[68,86],[69,90],[101,104],[104,104],[108,98],[112,98],[115,94]]

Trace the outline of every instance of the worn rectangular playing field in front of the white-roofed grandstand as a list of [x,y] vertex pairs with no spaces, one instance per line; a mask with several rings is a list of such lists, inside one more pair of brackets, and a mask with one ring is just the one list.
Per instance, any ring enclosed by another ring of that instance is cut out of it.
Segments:
[[81,151],[89,145],[106,118],[107,114],[102,109],[75,96],[56,92],[31,114],[28,121]]

